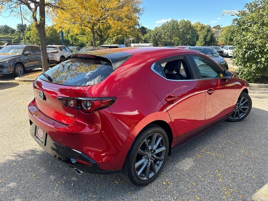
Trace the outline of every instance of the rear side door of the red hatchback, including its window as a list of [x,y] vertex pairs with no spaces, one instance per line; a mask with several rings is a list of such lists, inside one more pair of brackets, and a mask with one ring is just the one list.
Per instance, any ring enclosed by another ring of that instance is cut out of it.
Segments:
[[[192,71],[189,68],[187,58],[187,55],[178,56],[154,63],[148,79],[150,87],[172,120],[178,141],[195,133],[205,124],[205,91],[195,69]],[[172,61],[181,63],[179,72],[165,69],[167,63]],[[183,79],[167,79],[170,73],[179,73]]]

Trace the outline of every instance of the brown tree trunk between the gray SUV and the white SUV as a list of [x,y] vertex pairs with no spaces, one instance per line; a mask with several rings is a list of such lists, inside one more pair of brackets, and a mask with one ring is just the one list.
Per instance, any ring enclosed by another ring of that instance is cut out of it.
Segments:
[[42,56],[42,68],[43,72],[46,72],[49,68],[48,56],[47,56],[47,44],[45,40],[45,0],[39,1],[39,23],[35,24],[37,32],[40,38],[41,56]]

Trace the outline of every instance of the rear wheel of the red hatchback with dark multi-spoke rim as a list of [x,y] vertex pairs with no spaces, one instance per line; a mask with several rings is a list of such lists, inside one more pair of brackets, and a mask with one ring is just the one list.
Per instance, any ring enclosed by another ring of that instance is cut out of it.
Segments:
[[[154,146],[151,146],[153,140],[155,143],[153,143]],[[145,141],[149,146],[146,146]],[[157,151],[158,153],[156,153]],[[163,128],[153,125],[143,129],[127,154],[122,169],[123,176],[136,186],[149,184],[161,173],[167,160],[168,151],[169,141]]]

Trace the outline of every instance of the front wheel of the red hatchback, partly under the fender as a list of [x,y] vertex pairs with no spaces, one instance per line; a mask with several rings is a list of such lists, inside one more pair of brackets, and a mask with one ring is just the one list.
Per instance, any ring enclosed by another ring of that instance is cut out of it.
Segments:
[[242,92],[238,97],[233,114],[231,114],[231,116],[227,119],[227,121],[237,122],[243,120],[249,115],[251,107],[252,107],[252,100],[250,96],[247,93]]

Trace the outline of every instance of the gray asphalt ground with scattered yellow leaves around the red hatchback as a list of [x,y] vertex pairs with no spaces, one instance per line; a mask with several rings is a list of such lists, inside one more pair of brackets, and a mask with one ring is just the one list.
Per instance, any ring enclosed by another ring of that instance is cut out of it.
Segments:
[[268,89],[251,89],[245,120],[180,147],[136,187],[120,174],[77,175],[43,151],[29,134],[32,83],[13,79],[0,76],[0,200],[268,200]]

